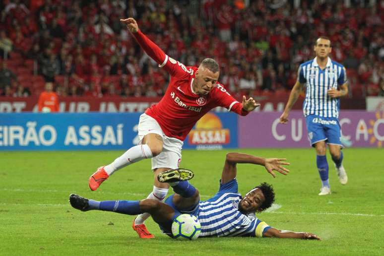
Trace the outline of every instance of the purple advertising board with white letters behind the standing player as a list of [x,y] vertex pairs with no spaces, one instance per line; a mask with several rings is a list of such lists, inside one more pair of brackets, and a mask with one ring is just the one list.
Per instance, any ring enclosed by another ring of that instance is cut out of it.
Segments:
[[[280,124],[281,113],[251,113],[239,119],[239,147],[309,147],[305,118],[292,111],[288,124]],[[352,147],[383,147],[384,112],[341,111],[342,142]]]

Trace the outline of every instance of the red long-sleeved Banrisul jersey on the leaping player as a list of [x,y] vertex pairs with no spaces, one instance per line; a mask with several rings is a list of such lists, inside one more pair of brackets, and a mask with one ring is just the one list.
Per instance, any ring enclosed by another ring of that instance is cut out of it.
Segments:
[[171,75],[163,98],[145,111],[159,123],[165,135],[184,140],[195,123],[215,107],[224,107],[242,116],[249,113],[243,110],[243,105],[220,83],[217,83],[207,95],[195,94],[192,83],[197,67],[185,66],[168,57],[141,31],[133,35],[148,56]]

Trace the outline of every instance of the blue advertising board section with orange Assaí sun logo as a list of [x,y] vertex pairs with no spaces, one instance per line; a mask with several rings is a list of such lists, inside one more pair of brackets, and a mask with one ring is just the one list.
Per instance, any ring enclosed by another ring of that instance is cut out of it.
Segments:
[[183,148],[221,149],[238,147],[238,115],[235,113],[205,114],[192,128]]

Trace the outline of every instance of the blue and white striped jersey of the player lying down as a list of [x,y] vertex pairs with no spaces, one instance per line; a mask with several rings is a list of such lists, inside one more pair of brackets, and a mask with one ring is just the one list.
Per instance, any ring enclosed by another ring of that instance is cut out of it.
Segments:
[[199,203],[199,237],[262,237],[270,226],[254,216],[241,213],[241,199],[236,179],[220,183],[220,190],[214,197]]

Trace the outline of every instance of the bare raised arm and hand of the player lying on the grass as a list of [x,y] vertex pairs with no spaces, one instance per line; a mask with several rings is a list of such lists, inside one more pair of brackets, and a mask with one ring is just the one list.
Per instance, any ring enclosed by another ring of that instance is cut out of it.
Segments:
[[262,165],[273,177],[276,177],[274,171],[287,175],[289,170],[281,166],[289,165],[289,163],[285,162],[286,160],[287,159],[285,158],[263,158],[236,152],[228,153],[225,158],[224,168],[221,174],[221,184],[225,184],[236,178],[237,164]]

